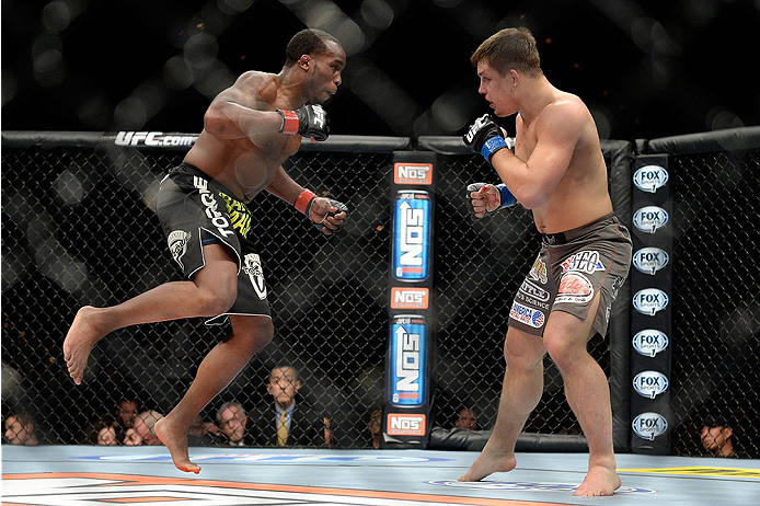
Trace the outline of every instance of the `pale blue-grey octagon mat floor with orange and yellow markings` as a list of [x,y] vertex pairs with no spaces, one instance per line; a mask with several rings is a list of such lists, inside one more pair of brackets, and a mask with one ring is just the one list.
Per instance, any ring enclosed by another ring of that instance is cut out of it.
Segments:
[[476,452],[192,448],[200,474],[163,447],[2,446],[2,506],[750,505],[760,460],[618,455],[613,497],[573,497],[587,453],[518,453],[517,469],[460,483]]

